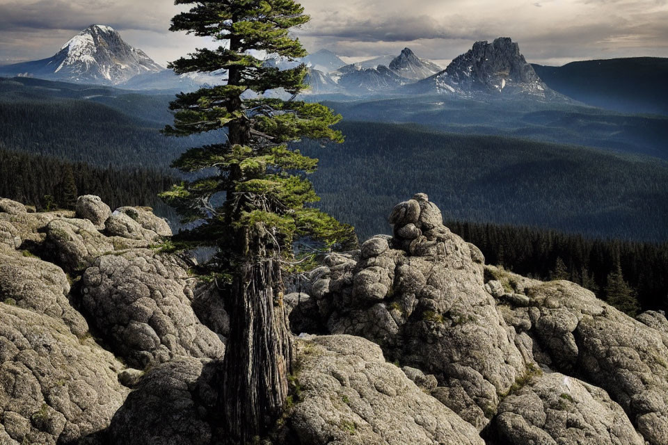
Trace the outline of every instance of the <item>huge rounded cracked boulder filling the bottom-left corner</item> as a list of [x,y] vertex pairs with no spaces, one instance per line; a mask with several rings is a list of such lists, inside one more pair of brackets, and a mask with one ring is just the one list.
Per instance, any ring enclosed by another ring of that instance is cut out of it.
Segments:
[[104,430],[122,365],[55,318],[0,303],[0,443],[70,444]]

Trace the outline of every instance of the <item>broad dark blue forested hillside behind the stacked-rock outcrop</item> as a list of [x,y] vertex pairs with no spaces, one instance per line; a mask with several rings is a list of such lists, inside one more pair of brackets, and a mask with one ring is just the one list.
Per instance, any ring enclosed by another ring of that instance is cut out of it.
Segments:
[[392,206],[427,193],[456,220],[535,225],[586,236],[667,241],[668,163],[586,147],[463,136],[415,125],[344,122],[343,145],[301,148],[321,207],[388,232]]

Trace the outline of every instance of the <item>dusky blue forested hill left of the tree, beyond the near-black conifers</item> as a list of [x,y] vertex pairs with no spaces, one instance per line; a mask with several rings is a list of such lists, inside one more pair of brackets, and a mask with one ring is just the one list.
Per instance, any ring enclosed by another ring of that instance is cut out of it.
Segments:
[[[126,100],[132,102],[129,97],[113,102],[120,106]],[[0,102],[0,121],[0,149],[101,167],[111,164],[164,170],[171,159],[191,145],[214,140],[210,135],[166,138],[159,132],[162,125],[158,122],[126,115],[108,105],[74,99]]]

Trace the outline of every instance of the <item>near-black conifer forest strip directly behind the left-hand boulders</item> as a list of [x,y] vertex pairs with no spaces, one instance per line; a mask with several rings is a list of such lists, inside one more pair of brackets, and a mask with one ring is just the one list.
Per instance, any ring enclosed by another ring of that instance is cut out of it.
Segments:
[[112,209],[122,206],[168,208],[157,194],[175,179],[141,168],[94,168],[49,156],[0,150],[0,197],[8,197],[40,210],[71,207],[77,195],[98,195]]

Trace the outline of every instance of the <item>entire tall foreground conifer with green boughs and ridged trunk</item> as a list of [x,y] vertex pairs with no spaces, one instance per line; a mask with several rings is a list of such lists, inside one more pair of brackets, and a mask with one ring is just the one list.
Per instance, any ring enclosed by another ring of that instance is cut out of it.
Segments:
[[[209,272],[230,284],[230,337],[219,395],[228,434],[243,443],[262,434],[287,398],[292,341],[281,274],[282,266],[294,264],[294,241],[356,243],[352,227],[310,207],[319,197],[305,175],[315,171],[317,159],[287,145],[301,138],[342,142],[342,134],[331,129],[341,117],[321,104],[296,100],[305,88],[305,65],[281,71],[255,57],[257,51],[289,60],[306,55],[289,35],[310,19],[299,3],[175,3],[193,6],[172,19],[171,31],[225,43],[170,64],[179,74],[227,70],[228,83],[178,95],[170,105],[174,124],[164,132],[190,136],[224,129],[225,140],[190,149],[173,163],[183,172],[213,168],[213,175],[183,182],[162,196],[184,220],[198,223],[180,241],[215,245],[219,253],[207,265]],[[279,88],[291,99],[262,96]],[[242,97],[248,90],[259,97]]]

